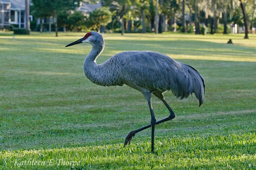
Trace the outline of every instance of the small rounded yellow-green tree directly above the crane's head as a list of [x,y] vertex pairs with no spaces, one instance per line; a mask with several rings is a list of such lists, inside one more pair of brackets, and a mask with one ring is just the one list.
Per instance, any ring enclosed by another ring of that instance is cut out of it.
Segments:
[[86,18],[86,25],[89,28],[97,29],[100,33],[100,27],[106,26],[112,20],[112,13],[108,7],[100,7],[91,12],[90,17]]

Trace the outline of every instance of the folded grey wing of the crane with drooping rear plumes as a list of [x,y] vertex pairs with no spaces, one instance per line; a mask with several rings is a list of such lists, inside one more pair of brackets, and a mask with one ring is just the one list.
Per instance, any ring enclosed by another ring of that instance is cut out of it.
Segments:
[[119,54],[123,77],[152,91],[171,90],[180,99],[195,93],[199,105],[202,105],[204,78],[193,67],[154,51],[126,51]]

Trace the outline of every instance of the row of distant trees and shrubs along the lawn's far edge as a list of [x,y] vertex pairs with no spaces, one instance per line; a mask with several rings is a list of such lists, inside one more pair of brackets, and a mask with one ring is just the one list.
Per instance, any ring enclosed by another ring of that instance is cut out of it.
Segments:
[[[97,3],[97,0],[84,0]],[[67,31],[100,32],[194,32],[210,34],[231,32],[230,24],[255,27],[256,0],[102,0],[102,7],[84,16],[75,11],[80,0],[32,0],[31,13],[37,18],[57,18],[58,28]],[[50,27],[49,27],[50,29]]]

